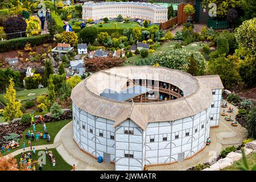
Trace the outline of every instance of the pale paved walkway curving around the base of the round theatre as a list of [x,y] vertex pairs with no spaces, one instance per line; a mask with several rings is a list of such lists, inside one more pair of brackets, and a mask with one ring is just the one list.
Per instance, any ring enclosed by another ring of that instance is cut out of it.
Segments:
[[[226,102],[226,101],[224,101]],[[234,108],[233,113],[228,113],[232,115],[232,118],[235,118],[238,109],[228,103],[228,107]],[[227,108],[225,108],[226,111]],[[221,109],[221,112],[223,109]],[[149,167],[149,170],[168,170],[168,171],[182,171],[193,166],[196,166],[200,163],[211,162],[212,159],[217,158],[220,154],[222,148],[228,146],[239,146],[242,143],[242,140],[246,139],[246,129],[238,124],[237,127],[230,125],[229,122],[225,121],[224,117],[220,117],[219,127],[210,129],[210,138],[211,143],[209,146],[206,146],[203,151],[199,154],[193,156],[189,160],[184,160],[183,162],[170,164],[167,166],[155,166]],[[59,133],[56,135],[54,143],[35,146],[36,150],[43,150],[44,148],[56,148],[59,154],[63,159],[70,165],[75,164],[77,171],[93,171],[93,170],[114,170],[114,164],[110,163],[98,163],[96,159],[91,158],[89,155],[82,152],[79,147],[73,142],[73,122],[69,122],[65,125]],[[26,151],[29,148],[26,148]],[[17,150],[10,155],[18,155],[23,150]]]

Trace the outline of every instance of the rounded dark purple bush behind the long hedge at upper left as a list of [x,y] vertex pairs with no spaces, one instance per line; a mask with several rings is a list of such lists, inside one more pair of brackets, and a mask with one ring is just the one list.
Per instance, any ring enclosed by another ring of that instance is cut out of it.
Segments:
[[[6,34],[9,39],[19,38],[20,33],[18,34],[11,34],[15,32],[25,32],[27,27],[26,21],[22,18],[22,16],[11,16],[6,19],[3,23],[3,28],[5,29]],[[22,36],[25,34],[22,33]]]

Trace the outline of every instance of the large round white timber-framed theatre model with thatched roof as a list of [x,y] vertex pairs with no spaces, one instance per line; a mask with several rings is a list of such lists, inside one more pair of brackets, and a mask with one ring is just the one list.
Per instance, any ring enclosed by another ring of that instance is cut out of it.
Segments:
[[111,68],[71,94],[73,140],[115,170],[142,170],[189,159],[218,126],[222,82],[151,66]]

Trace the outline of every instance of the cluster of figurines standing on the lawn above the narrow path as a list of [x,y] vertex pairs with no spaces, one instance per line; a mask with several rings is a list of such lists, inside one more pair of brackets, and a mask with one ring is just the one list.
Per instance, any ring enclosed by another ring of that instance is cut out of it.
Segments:
[[33,131],[30,132],[30,130],[28,130],[28,133],[26,134],[26,139],[31,139],[31,141],[34,141],[34,140],[39,140],[40,139],[46,139],[47,142],[49,142],[51,140],[51,137],[49,135],[49,133],[47,132],[47,128],[46,128],[46,123],[44,123],[43,125],[43,130],[44,130],[44,133],[42,132],[38,132],[36,134],[34,134],[34,132],[36,131],[35,129],[35,123],[32,125],[33,126]]

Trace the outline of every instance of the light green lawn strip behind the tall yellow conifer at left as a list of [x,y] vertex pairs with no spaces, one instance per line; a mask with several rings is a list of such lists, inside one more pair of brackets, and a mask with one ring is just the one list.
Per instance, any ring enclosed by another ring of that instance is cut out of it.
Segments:
[[[31,89],[31,90],[20,90],[18,92],[16,92],[16,97],[18,98],[18,100],[24,100],[27,97],[31,97],[31,98],[36,98],[38,96],[40,96],[43,93],[47,93],[48,90],[47,88],[42,88],[42,89]],[[28,94],[30,93],[35,93],[34,96],[28,96]],[[0,94],[0,101],[3,102],[3,104],[6,104],[6,100],[3,98],[3,94]]]

